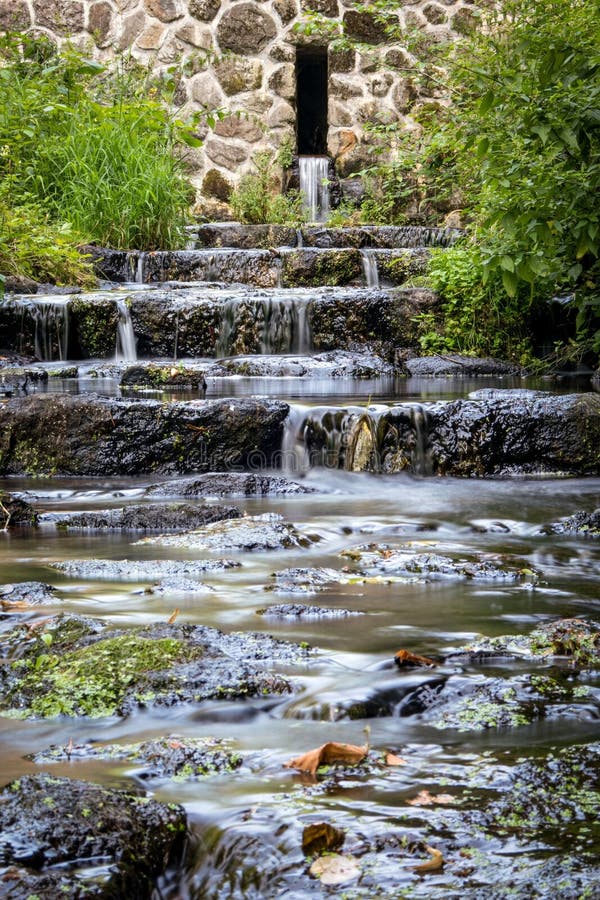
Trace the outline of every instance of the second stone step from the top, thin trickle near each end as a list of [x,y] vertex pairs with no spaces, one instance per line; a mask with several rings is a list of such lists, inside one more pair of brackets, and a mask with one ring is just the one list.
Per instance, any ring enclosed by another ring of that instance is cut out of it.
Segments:
[[428,258],[424,248],[216,248],[145,253],[95,247],[90,253],[98,276],[111,282],[207,281],[260,288],[371,286],[373,263],[381,283],[399,285],[424,274]]

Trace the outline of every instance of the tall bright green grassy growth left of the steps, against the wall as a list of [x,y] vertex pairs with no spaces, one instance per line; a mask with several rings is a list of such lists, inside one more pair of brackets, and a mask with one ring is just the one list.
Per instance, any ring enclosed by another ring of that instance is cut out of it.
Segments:
[[8,35],[0,89],[0,178],[14,176],[13,205],[33,197],[85,241],[183,245],[192,195],[180,140],[198,141],[147,73],[132,77],[122,61],[109,71],[43,38]]

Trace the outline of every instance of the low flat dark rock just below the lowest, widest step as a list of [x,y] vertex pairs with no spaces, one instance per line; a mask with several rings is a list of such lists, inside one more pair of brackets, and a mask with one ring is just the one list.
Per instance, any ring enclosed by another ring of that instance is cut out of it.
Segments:
[[159,497],[264,497],[268,495],[313,494],[316,488],[277,475],[254,472],[207,472],[151,485],[149,496]]

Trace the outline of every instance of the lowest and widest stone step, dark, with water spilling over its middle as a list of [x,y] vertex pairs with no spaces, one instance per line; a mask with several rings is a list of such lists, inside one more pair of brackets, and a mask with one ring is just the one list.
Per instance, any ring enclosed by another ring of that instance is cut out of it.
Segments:
[[33,395],[0,404],[1,475],[141,475],[311,465],[456,477],[600,475],[600,395],[300,407]]

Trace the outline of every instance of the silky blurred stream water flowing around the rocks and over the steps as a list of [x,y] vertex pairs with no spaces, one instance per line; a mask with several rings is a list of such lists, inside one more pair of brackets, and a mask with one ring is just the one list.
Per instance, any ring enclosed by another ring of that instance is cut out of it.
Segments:
[[[321,176],[314,177],[318,180]],[[374,260],[368,255],[364,259],[367,282],[375,286],[375,276],[366,265],[367,260],[369,265]],[[136,337],[130,310],[124,300],[117,298],[116,302],[117,357],[134,360]],[[219,356],[228,356],[234,348],[242,327],[243,303],[237,295],[224,303],[216,347]],[[254,319],[259,321],[263,354],[312,351],[309,294],[267,292],[257,303]],[[47,358],[43,350],[47,341],[42,335],[50,327],[60,326],[59,343],[61,348],[67,347],[66,304],[48,304],[47,316],[45,306],[38,304],[37,308],[44,314],[40,313],[38,320],[43,323],[39,355]],[[179,314],[174,321],[179,331]],[[177,336],[174,339],[177,347]],[[50,768],[57,775],[110,786],[143,784],[156,798],[185,805],[192,829],[191,850],[186,870],[163,885],[161,896],[169,900],[329,896],[328,888],[308,879],[299,844],[298,828],[301,833],[303,826],[322,821],[354,829],[358,837],[355,835],[346,849],[359,859],[370,840],[376,839],[384,849],[392,835],[401,835],[404,841],[402,852],[386,857],[378,874],[364,874],[362,886],[354,889],[350,884],[347,894],[341,887],[342,896],[426,900],[512,896],[497,892],[503,881],[509,888],[516,885],[517,897],[561,896],[558,887],[552,893],[552,873],[562,870],[546,867],[555,865],[557,855],[560,858],[561,853],[571,851],[568,843],[556,848],[531,835],[522,836],[518,829],[509,830],[503,838],[475,828],[454,843],[449,835],[462,835],[463,826],[458,823],[468,819],[471,806],[485,806],[485,798],[493,791],[500,795],[512,790],[509,772],[519,760],[544,759],[550,748],[556,754],[573,745],[585,747],[598,738],[598,673],[575,674],[563,667],[565,685],[569,679],[576,680],[581,696],[588,699],[573,701],[564,714],[532,716],[518,727],[440,727],[432,717],[411,713],[396,694],[385,714],[373,705],[373,697],[397,693],[399,678],[416,677],[399,675],[394,669],[393,658],[399,649],[444,658],[483,635],[526,635],[561,617],[598,615],[600,544],[585,535],[551,534],[544,527],[579,510],[591,512],[600,506],[600,479],[529,476],[469,480],[428,474],[427,403],[467,396],[484,384],[505,388],[513,383],[523,382],[489,377],[360,380],[324,376],[242,377],[220,385],[211,383],[213,397],[258,395],[291,402],[282,438],[281,469],[312,492],[225,499],[208,496],[187,502],[233,504],[249,515],[280,514],[307,537],[304,546],[291,549],[242,553],[226,543],[214,552],[156,546],[140,543],[139,534],[127,531],[60,529],[50,515],[156,502],[148,488],[165,477],[0,480],[0,489],[22,492],[48,514],[36,530],[0,534],[3,583],[39,581],[57,588],[56,603],[44,607],[44,615],[68,611],[127,629],[164,623],[177,608],[178,622],[226,632],[264,631],[318,648],[315,661],[290,670],[298,690],[289,697],[173,708],[149,705],[126,718],[97,720],[0,716],[4,780],[37,771],[28,755],[51,745],[125,743],[171,734],[226,739],[242,755],[243,766],[234,773],[200,780],[161,779],[148,784],[131,764],[93,758],[73,758]],[[90,387],[98,390],[98,379],[86,382],[80,374],[79,379],[60,381],[49,390],[85,391]],[[102,389],[118,393],[116,383],[103,383]],[[198,399],[197,394],[178,394],[177,398],[186,396]],[[352,460],[374,439],[378,423],[395,404],[408,410],[416,435],[410,468],[396,475],[352,471]],[[348,449],[351,435],[352,457]],[[271,474],[281,475],[282,471]],[[169,499],[176,498],[174,487]],[[410,551],[484,560],[525,574],[513,580],[443,574],[352,577],[349,560],[365,545],[381,548],[384,561],[396,552]],[[213,556],[227,556],[241,565],[207,573],[203,580],[211,590],[201,597],[176,591],[164,595],[145,592],[152,581],[143,577],[148,561]],[[90,559],[126,559],[140,566],[130,579],[110,572],[104,579],[88,579],[52,568],[64,560]],[[281,576],[297,569],[333,570],[337,577],[314,590],[276,578],[276,573]],[[348,614],[279,619],[259,615],[273,603],[318,605]],[[14,620],[14,614],[3,614],[1,627],[8,629]],[[490,659],[483,669],[467,664],[459,672],[446,664],[441,671],[444,677],[462,678],[465,686],[471,687],[491,676],[514,689],[530,676],[527,663],[501,657]],[[543,667],[542,674],[547,672],[554,672],[552,663]],[[434,687],[425,684],[427,689],[433,696]],[[284,767],[292,757],[328,741],[363,744],[367,726],[373,751],[398,754],[404,765],[393,769],[372,766],[354,773],[344,770],[339,777],[320,776],[321,782]],[[479,791],[475,800],[470,793],[473,790]],[[451,803],[447,799],[431,811],[429,801],[413,805],[419,796],[447,798],[448,794],[458,798],[458,807],[444,806]],[[457,818],[453,818],[455,814]],[[406,866],[406,853],[415,841],[423,840],[435,846],[446,842],[449,848],[446,871],[429,879],[417,877]],[[562,875],[566,877],[565,871]],[[594,894],[597,883],[594,886],[588,875],[581,878],[581,897],[599,896]],[[378,879],[384,887],[378,887]],[[538,894],[537,888],[527,887],[531,884],[546,887]],[[591,893],[584,893],[588,889]],[[565,891],[564,896],[578,895]]]

